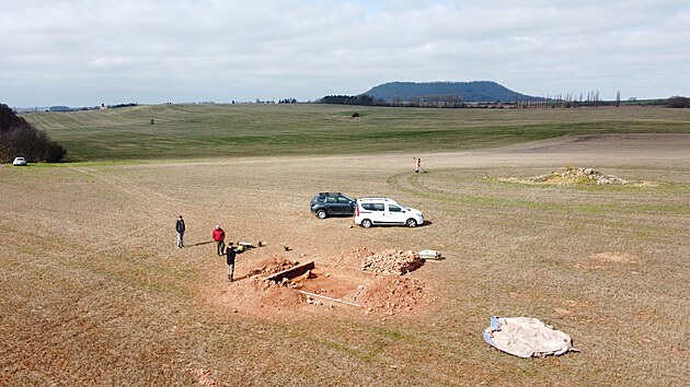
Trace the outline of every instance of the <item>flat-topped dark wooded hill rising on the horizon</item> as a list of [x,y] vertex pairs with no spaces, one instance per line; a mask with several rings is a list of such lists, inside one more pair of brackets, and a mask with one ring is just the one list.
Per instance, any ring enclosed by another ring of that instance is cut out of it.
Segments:
[[496,82],[472,81],[472,82],[389,82],[383,83],[366,93],[375,99],[391,102],[400,98],[409,102],[413,98],[425,96],[457,95],[463,102],[516,102],[536,101],[540,97],[530,96],[514,92]]

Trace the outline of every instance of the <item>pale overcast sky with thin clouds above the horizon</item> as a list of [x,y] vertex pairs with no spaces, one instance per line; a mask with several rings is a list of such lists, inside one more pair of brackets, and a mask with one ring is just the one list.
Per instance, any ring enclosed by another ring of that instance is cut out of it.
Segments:
[[690,95],[689,0],[0,0],[0,103],[355,95],[495,81]]

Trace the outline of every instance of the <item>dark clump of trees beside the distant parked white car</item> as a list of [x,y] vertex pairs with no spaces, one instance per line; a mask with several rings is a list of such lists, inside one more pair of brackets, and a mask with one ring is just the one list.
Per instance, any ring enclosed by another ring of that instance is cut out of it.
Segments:
[[67,150],[50,140],[48,134],[34,128],[4,104],[0,104],[0,162],[21,156],[32,162],[57,163]]

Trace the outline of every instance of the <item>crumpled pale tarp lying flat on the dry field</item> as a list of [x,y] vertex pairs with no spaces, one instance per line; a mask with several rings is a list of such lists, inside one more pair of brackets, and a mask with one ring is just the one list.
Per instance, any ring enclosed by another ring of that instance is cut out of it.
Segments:
[[573,348],[571,337],[560,330],[529,317],[491,318],[491,326],[484,329],[484,341],[504,352],[520,357],[543,357],[561,355]]

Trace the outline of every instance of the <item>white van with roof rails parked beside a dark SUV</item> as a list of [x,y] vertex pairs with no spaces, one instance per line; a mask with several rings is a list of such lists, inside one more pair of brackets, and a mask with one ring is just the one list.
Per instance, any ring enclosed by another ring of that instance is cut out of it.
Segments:
[[411,209],[388,198],[359,198],[355,210],[355,223],[365,228],[372,225],[406,225],[416,227],[424,224],[422,211]]

